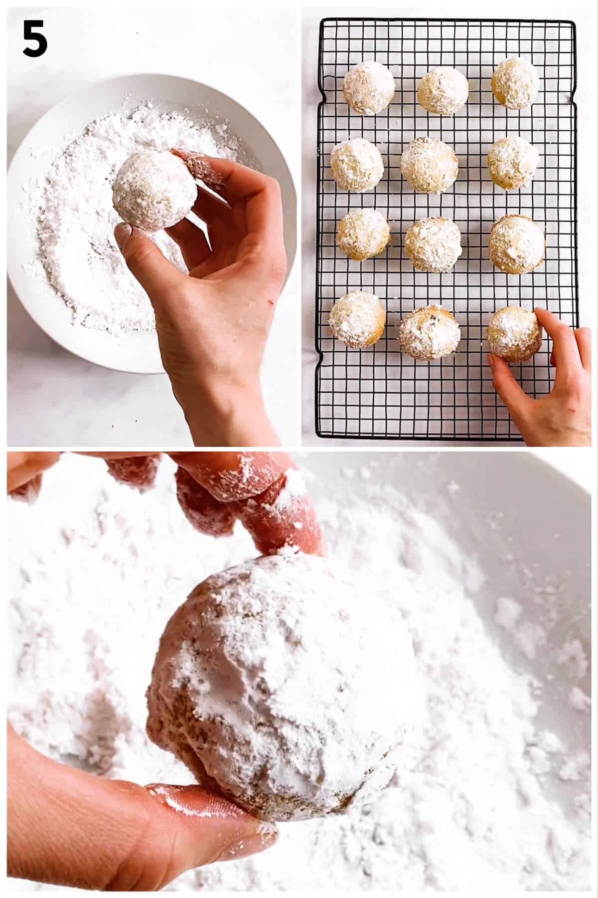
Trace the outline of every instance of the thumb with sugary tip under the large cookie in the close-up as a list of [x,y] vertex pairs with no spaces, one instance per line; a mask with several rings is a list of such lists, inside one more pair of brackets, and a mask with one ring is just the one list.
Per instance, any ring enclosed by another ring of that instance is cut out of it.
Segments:
[[192,867],[276,841],[262,823],[199,786],[102,779],[8,732],[8,875],[113,892],[155,892]]

